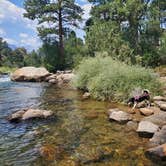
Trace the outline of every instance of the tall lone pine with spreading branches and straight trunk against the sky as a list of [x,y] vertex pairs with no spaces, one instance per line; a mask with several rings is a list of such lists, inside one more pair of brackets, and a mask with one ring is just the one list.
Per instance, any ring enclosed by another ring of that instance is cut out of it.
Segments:
[[26,0],[24,6],[24,16],[38,20],[38,32],[42,40],[48,43],[52,38],[54,43],[58,42],[58,60],[60,68],[63,68],[65,27],[78,26],[83,10],[75,0]]

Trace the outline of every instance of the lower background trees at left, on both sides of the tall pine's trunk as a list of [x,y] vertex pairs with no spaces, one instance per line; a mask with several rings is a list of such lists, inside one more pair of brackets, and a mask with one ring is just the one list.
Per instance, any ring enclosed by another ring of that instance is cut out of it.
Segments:
[[[65,63],[63,67],[71,69],[84,56],[84,43],[76,37],[74,31],[68,32],[64,38]],[[0,67],[20,68],[24,66],[44,66],[49,71],[54,72],[59,69],[58,44],[54,42],[43,42],[38,50],[31,52],[24,47],[12,49],[10,45],[0,38]]]

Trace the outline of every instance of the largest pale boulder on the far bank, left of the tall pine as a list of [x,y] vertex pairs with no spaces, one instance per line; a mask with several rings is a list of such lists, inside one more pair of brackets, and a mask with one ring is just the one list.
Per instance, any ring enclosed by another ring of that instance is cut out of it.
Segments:
[[43,67],[23,67],[12,73],[11,80],[39,82],[44,81],[49,75],[50,73]]

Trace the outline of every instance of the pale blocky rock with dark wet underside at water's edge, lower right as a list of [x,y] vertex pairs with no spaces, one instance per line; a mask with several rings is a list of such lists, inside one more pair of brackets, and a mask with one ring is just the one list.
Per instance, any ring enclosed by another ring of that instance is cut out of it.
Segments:
[[152,137],[153,134],[159,130],[159,126],[148,121],[141,121],[138,125],[137,132],[141,137]]

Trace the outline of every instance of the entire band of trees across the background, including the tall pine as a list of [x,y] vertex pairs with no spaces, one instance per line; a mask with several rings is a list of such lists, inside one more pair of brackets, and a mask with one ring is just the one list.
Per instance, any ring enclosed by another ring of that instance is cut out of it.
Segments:
[[74,0],[25,0],[24,17],[38,20],[43,45],[32,53],[23,48],[12,51],[7,47],[8,53],[1,49],[1,65],[43,65],[53,72],[73,68],[84,57],[97,54],[127,64],[166,64],[165,0],[88,1],[93,7],[83,42],[73,31],[79,28],[83,14]]

